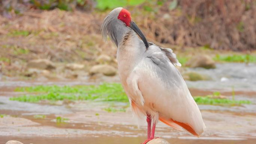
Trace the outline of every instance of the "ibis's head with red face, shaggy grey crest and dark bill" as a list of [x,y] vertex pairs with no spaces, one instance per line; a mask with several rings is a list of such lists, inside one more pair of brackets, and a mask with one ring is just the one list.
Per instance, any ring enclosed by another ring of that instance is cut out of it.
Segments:
[[107,35],[110,39],[118,46],[119,40],[121,40],[122,35],[125,30],[134,30],[141,40],[144,42],[146,48],[149,47],[147,39],[138,26],[132,21],[131,13],[122,7],[113,9],[104,19],[101,26],[101,32],[104,40],[107,40]]

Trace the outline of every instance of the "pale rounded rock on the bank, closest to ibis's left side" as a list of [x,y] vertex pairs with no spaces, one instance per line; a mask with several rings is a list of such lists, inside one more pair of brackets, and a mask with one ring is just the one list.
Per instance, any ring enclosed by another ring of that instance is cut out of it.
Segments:
[[107,65],[107,64],[94,65],[90,69],[89,74],[93,75],[93,74],[97,74],[97,73],[102,73],[105,76],[115,76],[116,68],[111,65]]

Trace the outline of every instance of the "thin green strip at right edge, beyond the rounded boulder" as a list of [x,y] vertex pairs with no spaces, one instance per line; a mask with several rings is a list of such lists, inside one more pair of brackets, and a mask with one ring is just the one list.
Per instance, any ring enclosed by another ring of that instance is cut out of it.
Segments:
[[256,56],[254,55],[216,55],[213,58],[215,61],[224,62],[256,62]]

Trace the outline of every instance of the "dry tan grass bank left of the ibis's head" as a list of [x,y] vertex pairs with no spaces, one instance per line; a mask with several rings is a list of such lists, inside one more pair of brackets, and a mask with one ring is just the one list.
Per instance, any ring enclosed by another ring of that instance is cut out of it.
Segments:
[[95,13],[30,10],[12,19],[0,15],[0,71],[25,71],[31,59],[95,64],[101,53],[115,57],[116,48],[100,34],[102,17]]

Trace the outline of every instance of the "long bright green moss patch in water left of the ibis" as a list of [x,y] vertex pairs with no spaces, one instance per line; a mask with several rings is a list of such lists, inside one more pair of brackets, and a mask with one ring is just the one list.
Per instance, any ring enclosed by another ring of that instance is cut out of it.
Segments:
[[23,95],[10,100],[39,102],[41,100],[99,100],[128,102],[124,89],[117,83],[104,83],[99,86],[32,86],[16,88],[18,92],[39,92],[40,95]]

